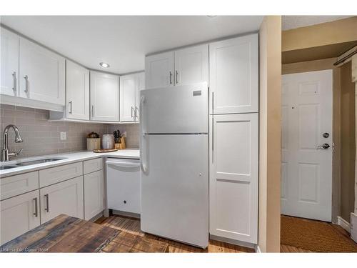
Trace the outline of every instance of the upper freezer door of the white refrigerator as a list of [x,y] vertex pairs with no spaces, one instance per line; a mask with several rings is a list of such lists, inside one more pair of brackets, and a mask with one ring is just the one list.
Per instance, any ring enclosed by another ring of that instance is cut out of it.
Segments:
[[207,83],[140,91],[144,133],[208,133]]

